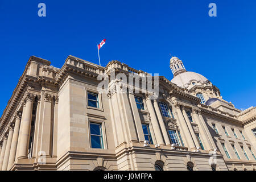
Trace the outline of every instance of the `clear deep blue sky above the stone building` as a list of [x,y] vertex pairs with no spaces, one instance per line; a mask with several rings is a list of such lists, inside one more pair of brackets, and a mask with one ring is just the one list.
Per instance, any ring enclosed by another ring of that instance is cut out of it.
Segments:
[[[38,4],[46,3],[46,17]],[[217,17],[208,5],[217,5]],[[0,1],[0,113],[31,55],[58,68],[68,55],[119,60],[172,79],[170,53],[238,109],[256,105],[256,1]],[[1,114],[0,114],[1,115]]]

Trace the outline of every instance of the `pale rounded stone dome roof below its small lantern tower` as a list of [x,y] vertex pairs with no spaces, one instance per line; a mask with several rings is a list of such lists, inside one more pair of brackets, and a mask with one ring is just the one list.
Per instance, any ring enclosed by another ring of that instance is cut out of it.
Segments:
[[182,88],[190,89],[194,85],[209,85],[210,81],[203,75],[195,72],[183,72],[172,78],[171,82]]

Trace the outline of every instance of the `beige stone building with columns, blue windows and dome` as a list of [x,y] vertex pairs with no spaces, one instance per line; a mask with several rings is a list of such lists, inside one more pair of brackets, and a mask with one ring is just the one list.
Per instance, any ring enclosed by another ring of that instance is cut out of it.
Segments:
[[236,109],[177,57],[170,67],[152,97],[150,74],[119,61],[31,56],[0,119],[0,169],[255,170],[256,107]]

